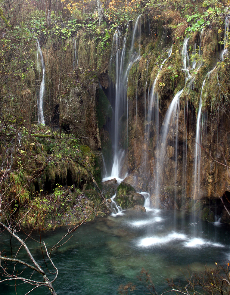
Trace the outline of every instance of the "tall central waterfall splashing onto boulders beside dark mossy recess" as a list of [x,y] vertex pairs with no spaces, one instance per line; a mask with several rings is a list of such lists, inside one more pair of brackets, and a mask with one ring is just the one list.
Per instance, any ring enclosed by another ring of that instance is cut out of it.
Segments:
[[[138,16],[133,31],[132,31],[132,42],[129,50],[127,50],[126,41],[128,34],[129,23],[126,28],[126,34],[122,41],[121,32],[117,30],[113,37],[113,49],[110,59],[110,67],[113,67],[113,60],[115,62],[115,75],[116,75],[116,85],[115,85],[115,110],[112,130],[111,130],[111,140],[113,147],[113,166],[110,174],[106,174],[103,181],[108,179],[116,178],[119,182],[126,177],[126,171],[123,171],[123,165],[126,157],[125,148],[121,147],[120,140],[124,130],[128,130],[128,106],[127,106],[127,82],[129,76],[129,70],[133,63],[140,58],[140,41],[138,53],[135,52],[134,41],[136,33],[138,32],[138,40],[140,40],[141,34],[141,23],[140,17]],[[122,42],[121,42],[122,41]],[[114,55],[114,56],[113,56]],[[115,58],[114,58],[115,57]],[[127,66],[125,67],[125,61]]]

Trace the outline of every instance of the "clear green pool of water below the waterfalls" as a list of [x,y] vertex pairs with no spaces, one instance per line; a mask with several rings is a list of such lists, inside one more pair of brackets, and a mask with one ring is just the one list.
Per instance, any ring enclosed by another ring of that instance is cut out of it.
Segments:
[[[42,241],[49,247],[65,232],[66,228],[58,228],[42,233]],[[215,266],[215,262],[229,259],[229,236],[226,225],[191,223],[189,216],[181,213],[176,219],[171,212],[157,210],[108,216],[79,227],[71,240],[53,253],[59,269],[54,288],[60,295],[112,295],[118,293],[120,284],[133,282],[137,285],[133,294],[140,295],[145,288],[137,276],[145,268],[159,292],[167,287],[166,278],[183,281],[179,269],[201,271],[205,263]],[[39,240],[39,233],[33,238]],[[39,244],[33,240],[27,244],[44,267]],[[9,249],[7,236],[0,247]],[[25,259],[23,253],[19,257]],[[26,290],[28,286],[18,286],[17,294]],[[15,287],[1,286],[1,294],[15,294]],[[50,293],[42,287],[33,294]]]

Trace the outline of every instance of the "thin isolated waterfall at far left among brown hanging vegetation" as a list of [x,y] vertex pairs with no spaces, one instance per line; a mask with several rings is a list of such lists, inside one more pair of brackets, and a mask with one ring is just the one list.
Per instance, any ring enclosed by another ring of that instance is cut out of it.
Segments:
[[[45,125],[45,119],[43,115],[43,97],[45,93],[45,62],[42,55],[42,50],[39,45],[39,41],[36,42],[37,47],[37,58],[40,56],[41,67],[42,67],[42,82],[39,89],[39,94],[37,97],[37,104],[38,104],[38,123]],[[39,59],[37,60],[39,64]]]

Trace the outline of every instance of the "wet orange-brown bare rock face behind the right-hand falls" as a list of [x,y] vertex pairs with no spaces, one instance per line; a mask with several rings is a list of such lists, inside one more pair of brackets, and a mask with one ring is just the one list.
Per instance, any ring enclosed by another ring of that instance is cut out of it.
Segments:
[[[220,163],[225,163],[225,159],[228,157],[229,113],[225,113],[226,110],[225,112],[219,111],[218,120],[217,118],[213,120],[213,116],[209,114],[206,115],[205,120],[203,119],[202,148],[199,159],[200,173],[199,175],[197,173],[197,181],[194,183],[197,114],[192,106],[188,105],[188,109],[185,110],[181,102],[178,119],[172,120],[169,124],[165,157],[160,164],[158,175],[160,192],[156,196],[157,161],[162,148],[160,144],[157,146],[157,140],[160,139],[161,126],[173,95],[169,93],[161,100],[159,106],[160,128],[157,130],[154,121],[147,122],[146,96],[140,92],[140,89],[138,91],[137,100],[133,98],[129,100],[129,146],[125,163],[129,175],[124,181],[149,192],[152,195],[152,206],[169,210],[188,209],[191,208],[189,204],[193,200],[218,199],[225,191],[230,191],[230,177],[227,169],[212,159],[213,157]],[[174,124],[178,126],[178,132],[175,132],[175,127],[173,129]],[[149,139],[148,129],[150,130]],[[204,214],[207,204],[201,206],[199,215],[203,216],[202,218],[205,220],[212,220],[210,217],[212,213]]]

